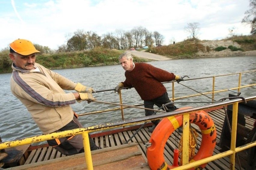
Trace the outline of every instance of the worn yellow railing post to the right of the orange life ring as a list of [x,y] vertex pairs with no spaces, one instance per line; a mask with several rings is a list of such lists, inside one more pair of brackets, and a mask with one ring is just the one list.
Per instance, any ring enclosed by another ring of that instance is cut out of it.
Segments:
[[235,169],[237,114],[238,114],[238,102],[233,104],[230,150],[234,151],[234,153],[230,155],[230,169]]

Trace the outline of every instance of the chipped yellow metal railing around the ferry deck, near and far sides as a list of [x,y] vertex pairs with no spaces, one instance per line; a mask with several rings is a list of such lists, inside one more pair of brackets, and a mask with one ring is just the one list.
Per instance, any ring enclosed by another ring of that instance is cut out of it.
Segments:
[[[255,71],[256,70],[247,71],[247,72],[255,72]],[[250,84],[250,85],[246,85],[246,86],[240,86],[241,76],[242,76],[243,73],[247,73],[247,72],[234,73],[234,74],[239,74],[239,83],[238,83],[238,87],[234,87],[234,88],[231,88],[231,89],[240,90],[241,88],[244,88],[244,87],[249,87],[249,86],[255,86],[256,85],[256,84]],[[228,75],[234,75],[234,74],[228,74]],[[219,76],[227,76],[227,75],[219,75]],[[206,93],[202,93],[202,94],[212,93],[212,98],[214,98],[214,93],[228,90],[228,89],[223,89],[223,90],[214,91],[215,77],[218,77],[218,76],[212,76],[211,77],[211,78],[213,78],[212,92],[206,92]],[[209,78],[209,77],[207,77],[207,78]],[[201,79],[201,78],[197,78],[197,79]],[[192,80],[192,79],[189,79],[189,80],[186,80],[186,81],[190,81],[190,80]],[[172,82],[172,84],[173,84],[173,82]],[[172,89],[174,91],[174,85],[172,85]],[[197,94],[197,95],[202,95],[202,94]],[[196,95],[190,95],[190,96],[180,97],[180,98],[187,98],[187,97],[191,97],[191,96],[196,96]],[[177,100],[177,99],[178,98],[172,98],[172,100]],[[252,97],[245,98],[245,99],[246,100],[253,100],[253,99],[255,100],[256,96],[252,96]],[[169,112],[169,113],[165,113],[165,114],[147,116],[147,118],[145,118],[145,117],[136,118],[136,119],[133,119],[133,120],[120,121],[120,122],[109,123],[109,124],[105,124],[105,125],[96,125],[96,126],[73,129],[73,130],[67,130],[67,131],[63,131],[63,132],[51,133],[51,134],[46,134],[46,135],[33,136],[33,137],[29,137],[29,138],[25,138],[25,139],[19,139],[19,140],[15,140],[15,141],[2,142],[2,143],[0,143],[0,150],[5,149],[5,148],[19,146],[19,145],[26,145],[26,144],[36,143],[36,142],[43,142],[43,141],[46,141],[46,140],[60,138],[60,137],[66,137],[66,136],[70,136],[70,135],[82,134],[83,135],[83,144],[84,144],[84,151],[85,151],[85,159],[86,159],[87,169],[93,169],[92,157],[91,157],[91,151],[90,151],[90,144],[89,144],[89,138],[88,138],[88,133],[90,133],[90,132],[96,132],[96,131],[99,131],[99,130],[105,130],[105,129],[110,129],[110,128],[117,128],[117,127],[122,127],[122,126],[134,125],[134,124],[138,124],[138,123],[148,122],[149,120],[161,119],[161,118],[164,118],[164,117],[174,116],[174,115],[178,115],[178,114],[186,114],[187,115],[187,114],[195,112],[195,111],[200,111],[200,110],[204,110],[204,109],[209,109],[209,108],[214,108],[214,107],[219,107],[219,106],[226,106],[228,104],[233,104],[232,133],[231,133],[231,145],[230,145],[231,148],[230,148],[230,150],[225,151],[225,152],[220,153],[220,154],[213,155],[212,157],[208,157],[208,158],[205,158],[205,159],[202,159],[202,160],[195,161],[193,163],[188,163],[188,160],[184,159],[183,166],[180,166],[180,167],[175,168],[175,169],[192,168],[192,167],[199,166],[199,165],[202,165],[204,163],[208,163],[208,162],[216,160],[216,159],[220,159],[220,158],[228,156],[228,155],[231,155],[230,169],[234,169],[235,153],[239,152],[239,151],[242,151],[242,150],[245,150],[247,148],[251,148],[253,146],[256,146],[256,142],[251,142],[249,144],[240,146],[238,148],[235,147],[236,146],[237,110],[238,110],[238,103],[239,102],[242,102],[242,99],[238,98],[238,99],[233,99],[233,100],[229,100],[229,101],[222,101],[222,102],[218,102],[218,103],[215,103],[215,104],[209,104],[209,105],[207,105],[207,107],[204,107],[204,106],[193,107],[193,108],[186,109],[186,110],[178,110],[178,111],[173,111],[173,112]],[[120,104],[122,104],[121,93],[120,93]],[[123,114],[123,109],[124,108],[127,108],[127,107],[123,107],[121,105],[121,107],[119,108],[122,111],[122,114]],[[116,109],[112,109],[112,110],[116,110]],[[105,111],[111,111],[111,110],[105,110]],[[104,110],[99,111],[99,113],[102,113],[102,112],[105,112],[105,111]],[[94,113],[96,113],[96,112],[94,112]],[[90,113],[90,114],[94,114],[94,113]],[[87,114],[89,114],[89,113],[87,113]],[[185,117],[186,118],[184,118],[184,121],[189,122],[189,120],[188,120],[189,117],[188,116],[185,116]],[[189,136],[188,130],[184,131],[183,136],[184,136],[183,139],[188,139],[188,136]],[[184,147],[183,149],[187,150],[188,148]],[[184,151],[183,153],[188,153],[188,151]],[[184,157],[187,157],[187,155],[184,155]]]

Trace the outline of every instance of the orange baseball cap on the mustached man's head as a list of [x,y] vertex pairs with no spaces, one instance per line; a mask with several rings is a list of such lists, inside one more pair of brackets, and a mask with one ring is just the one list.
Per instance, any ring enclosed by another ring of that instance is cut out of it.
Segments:
[[10,52],[16,52],[20,55],[30,55],[33,53],[41,53],[35,49],[33,43],[29,40],[17,39],[10,44]]

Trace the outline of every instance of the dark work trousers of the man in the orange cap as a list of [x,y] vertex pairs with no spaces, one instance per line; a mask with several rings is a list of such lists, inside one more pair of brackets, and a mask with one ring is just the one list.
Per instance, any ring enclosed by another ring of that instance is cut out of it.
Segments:
[[[69,122],[63,128],[56,130],[55,132],[60,132],[60,131],[64,131],[64,130],[72,130],[75,128],[83,128],[83,126],[78,121],[78,119],[74,116],[74,118],[71,122]],[[89,135],[89,141],[90,141],[91,151],[99,149],[99,147],[96,146],[96,144],[94,143],[94,141],[90,137],[90,135]],[[64,155],[73,155],[73,154],[78,154],[78,153],[84,152],[82,134],[47,140],[47,142],[50,146],[53,146],[53,148],[55,148],[57,151],[59,151],[60,153],[62,153]]]

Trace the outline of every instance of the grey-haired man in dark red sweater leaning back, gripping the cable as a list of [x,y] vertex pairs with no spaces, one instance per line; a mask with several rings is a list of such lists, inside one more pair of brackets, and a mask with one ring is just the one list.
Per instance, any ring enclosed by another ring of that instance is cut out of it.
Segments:
[[[125,70],[125,81],[116,86],[115,92],[119,93],[121,87],[133,86],[141,99],[144,100],[144,107],[154,109],[154,104],[161,107],[162,104],[171,102],[162,82],[176,80],[178,83],[184,81],[181,76],[159,69],[147,63],[133,63],[133,56],[130,52],[120,55],[119,61]],[[173,104],[166,105],[167,112],[176,110]],[[153,115],[153,110],[145,109],[145,116]],[[154,126],[149,128],[149,132],[153,132],[160,120],[154,120]]]

